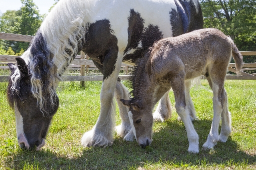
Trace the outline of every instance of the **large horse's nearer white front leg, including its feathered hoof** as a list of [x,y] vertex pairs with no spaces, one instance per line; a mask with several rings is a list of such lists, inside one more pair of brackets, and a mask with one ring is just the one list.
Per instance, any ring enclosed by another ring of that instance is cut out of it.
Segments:
[[[104,65],[103,75],[106,76],[106,78],[103,80],[100,92],[99,117],[92,130],[83,135],[81,139],[82,146],[110,146],[113,143],[113,131],[115,127],[115,104],[113,97],[122,61],[122,57],[119,53],[117,56],[113,67],[114,70],[110,74],[105,74],[106,71],[109,71],[109,68],[106,67],[112,67],[113,65]],[[110,57],[108,56],[106,58]],[[106,61],[105,63],[109,62]]]

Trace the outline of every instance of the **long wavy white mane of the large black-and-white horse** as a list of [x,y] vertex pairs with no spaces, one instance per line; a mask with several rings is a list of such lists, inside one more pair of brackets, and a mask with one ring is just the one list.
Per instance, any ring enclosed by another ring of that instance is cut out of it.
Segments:
[[[80,48],[88,26],[90,5],[93,6],[94,1],[60,0],[21,56],[29,68],[31,92],[41,109],[47,103],[42,92],[48,93],[52,103],[60,76]],[[10,77],[11,91],[17,91],[20,78],[19,70],[16,69]]]

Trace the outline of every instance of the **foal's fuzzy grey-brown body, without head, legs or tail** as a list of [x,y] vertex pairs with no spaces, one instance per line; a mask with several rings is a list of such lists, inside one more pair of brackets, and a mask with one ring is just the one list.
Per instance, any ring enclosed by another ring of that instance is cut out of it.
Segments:
[[148,72],[156,77],[171,77],[183,70],[185,79],[190,79],[215,67],[225,75],[232,51],[230,40],[214,28],[161,39],[153,45]]

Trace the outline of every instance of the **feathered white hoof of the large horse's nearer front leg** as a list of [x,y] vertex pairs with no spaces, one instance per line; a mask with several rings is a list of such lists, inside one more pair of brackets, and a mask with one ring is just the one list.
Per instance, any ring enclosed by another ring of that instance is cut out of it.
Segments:
[[107,139],[100,133],[96,133],[94,129],[86,132],[81,139],[81,145],[84,147],[107,147],[113,144],[113,138]]

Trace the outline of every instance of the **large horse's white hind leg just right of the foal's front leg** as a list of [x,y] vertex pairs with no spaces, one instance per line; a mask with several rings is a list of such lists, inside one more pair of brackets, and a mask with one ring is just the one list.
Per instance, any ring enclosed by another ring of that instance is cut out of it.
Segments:
[[[191,121],[194,121],[194,120],[197,120],[197,117],[196,117],[196,112],[194,109],[194,104],[193,104],[193,101],[192,101],[190,93],[189,93],[190,86],[191,86],[191,80],[185,80],[186,107],[189,110],[189,116],[190,116]],[[178,119],[178,121],[181,121],[180,117],[178,117],[177,119]]]

